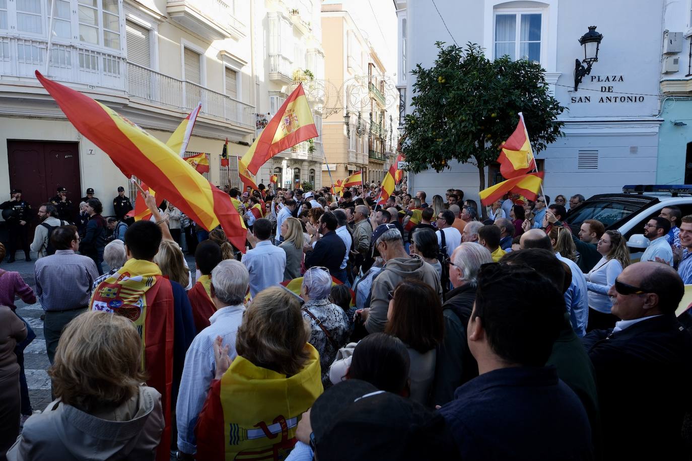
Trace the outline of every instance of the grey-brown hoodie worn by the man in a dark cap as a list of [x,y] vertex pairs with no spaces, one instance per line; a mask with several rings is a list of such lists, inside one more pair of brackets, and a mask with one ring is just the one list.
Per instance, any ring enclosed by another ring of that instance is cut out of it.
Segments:
[[370,297],[370,315],[365,321],[365,329],[369,333],[383,332],[387,323],[387,310],[389,309],[390,290],[399,285],[403,279],[418,279],[424,281],[437,292],[440,301],[442,299],[442,286],[439,283],[439,275],[432,265],[423,261],[418,255],[410,258],[392,258],[385,264],[384,269],[372,282],[372,295]]

